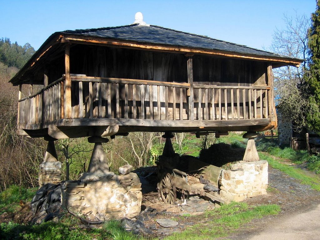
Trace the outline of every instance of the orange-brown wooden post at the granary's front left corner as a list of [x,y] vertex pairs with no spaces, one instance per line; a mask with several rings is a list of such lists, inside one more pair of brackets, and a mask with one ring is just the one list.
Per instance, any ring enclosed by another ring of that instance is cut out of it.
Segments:
[[71,118],[71,78],[70,78],[70,45],[66,45],[65,49],[65,89],[66,89],[66,118]]

